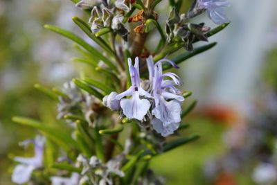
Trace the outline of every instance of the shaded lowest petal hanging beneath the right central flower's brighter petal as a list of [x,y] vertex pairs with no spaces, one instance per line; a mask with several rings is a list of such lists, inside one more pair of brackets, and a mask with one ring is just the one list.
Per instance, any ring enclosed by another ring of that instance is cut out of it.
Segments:
[[180,123],[170,123],[167,126],[163,126],[163,123],[158,118],[152,118],[151,120],[154,130],[160,133],[162,136],[166,137],[170,134],[173,134],[175,130],[178,129]]

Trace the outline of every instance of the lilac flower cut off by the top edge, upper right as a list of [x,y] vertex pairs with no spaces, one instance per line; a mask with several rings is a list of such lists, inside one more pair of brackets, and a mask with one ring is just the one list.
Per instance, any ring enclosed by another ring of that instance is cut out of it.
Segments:
[[208,17],[215,24],[224,24],[229,22],[229,19],[224,15],[223,8],[230,6],[227,0],[198,0],[197,7],[206,9]]

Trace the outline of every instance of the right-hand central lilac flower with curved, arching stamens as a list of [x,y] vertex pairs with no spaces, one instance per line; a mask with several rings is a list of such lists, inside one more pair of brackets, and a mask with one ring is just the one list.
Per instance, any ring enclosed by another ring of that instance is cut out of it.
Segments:
[[[179,127],[181,122],[181,105],[184,101],[181,91],[175,86],[181,85],[179,76],[175,73],[162,73],[162,62],[169,62],[173,67],[177,65],[171,60],[160,60],[156,64],[148,58],[148,70],[152,79],[152,96],[154,96],[154,107],[152,109],[152,125],[154,130],[162,136],[172,134]],[[154,72],[153,72],[154,68]],[[171,80],[164,80],[164,78]]]

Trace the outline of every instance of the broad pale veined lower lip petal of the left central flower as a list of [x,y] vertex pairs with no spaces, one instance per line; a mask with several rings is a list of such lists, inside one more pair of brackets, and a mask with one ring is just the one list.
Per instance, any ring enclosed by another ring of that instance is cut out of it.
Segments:
[[132,98],[120,100],[120,107],[127,118],[136,118],[141,121],[150,108],[150,102],[139,98],[139,92],[134,91]]

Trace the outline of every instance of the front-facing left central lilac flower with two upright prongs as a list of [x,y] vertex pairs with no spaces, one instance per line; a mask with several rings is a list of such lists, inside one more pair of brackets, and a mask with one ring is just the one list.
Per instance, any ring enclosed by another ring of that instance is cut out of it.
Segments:
[[[120,107],[127,118],[136,118],[143,120],[150,108],[150,101],[143,98],[152,98],[152,96],[141,87],[141,78],[139,76],[139,58],[135,59],[134,66],[131,58],[128,58],[129,74],[132,80],[132,86],[126,91],[116,96],[120,100]],[[123,98],[131,96],[131,98]],[[123,99],[122,99],[123,98]],[[142,99],[141,99],[142,98]]]

